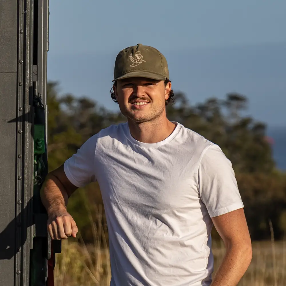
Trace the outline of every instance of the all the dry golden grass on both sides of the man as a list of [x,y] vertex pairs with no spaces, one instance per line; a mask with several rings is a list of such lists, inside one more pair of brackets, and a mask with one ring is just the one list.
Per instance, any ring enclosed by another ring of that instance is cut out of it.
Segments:
[[[102,208],[96,210],[96,220],[90,216],[94,243],[62,241],[62,253],[56,254],[55,285],[109,285],[110,262],[106,235],[101,225]],[[99,227],[96,227],[99,225]],[[274,241],[270,222],[271,241],[253,242],[253,259],[239,285],[286,285],[286,241]],[[78,237],[81,235],[78,233]],[[223,260],[222,241],[213,242],[215,271]]]

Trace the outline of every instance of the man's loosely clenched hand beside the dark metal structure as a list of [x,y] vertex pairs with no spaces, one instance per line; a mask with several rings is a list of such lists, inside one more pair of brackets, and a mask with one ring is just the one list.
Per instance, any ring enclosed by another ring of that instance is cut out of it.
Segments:
[[71,235],[76,237],[78,227],[67,211],[52,212],[48,216],[47,230],[51,239],[67,239]]

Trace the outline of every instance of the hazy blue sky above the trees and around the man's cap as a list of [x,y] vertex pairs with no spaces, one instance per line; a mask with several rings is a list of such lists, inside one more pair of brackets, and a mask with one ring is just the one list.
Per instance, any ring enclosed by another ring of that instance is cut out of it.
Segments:
[[168,61],[190,104],[238,92],[248,114],[286,126],[286,1],[49,0],[48,80],[110,110],[115,57],[142,43]]

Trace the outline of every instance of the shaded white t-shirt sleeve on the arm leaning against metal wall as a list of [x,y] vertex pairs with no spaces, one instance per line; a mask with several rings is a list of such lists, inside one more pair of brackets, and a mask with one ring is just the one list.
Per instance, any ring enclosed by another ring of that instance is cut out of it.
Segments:
[[90,137],[63,165],[65,175],[77,187],[96,181],[94,163],[97,138],[97,134]]

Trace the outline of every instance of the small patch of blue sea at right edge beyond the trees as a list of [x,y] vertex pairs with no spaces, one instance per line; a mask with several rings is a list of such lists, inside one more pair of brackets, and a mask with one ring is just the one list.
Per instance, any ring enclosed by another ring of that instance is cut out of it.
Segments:
[[286,127],[269,128],[267,135],[273,139],[273,157],[277,167],[286,171]]

